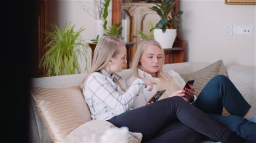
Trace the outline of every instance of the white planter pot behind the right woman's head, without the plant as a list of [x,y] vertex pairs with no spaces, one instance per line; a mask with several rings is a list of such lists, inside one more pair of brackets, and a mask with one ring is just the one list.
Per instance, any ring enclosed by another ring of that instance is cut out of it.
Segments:
[[172,48],[176,36],[177,29],[166,29],[165,33],[162,33],[162,29],[154,29],[154,38],[164,49]]

